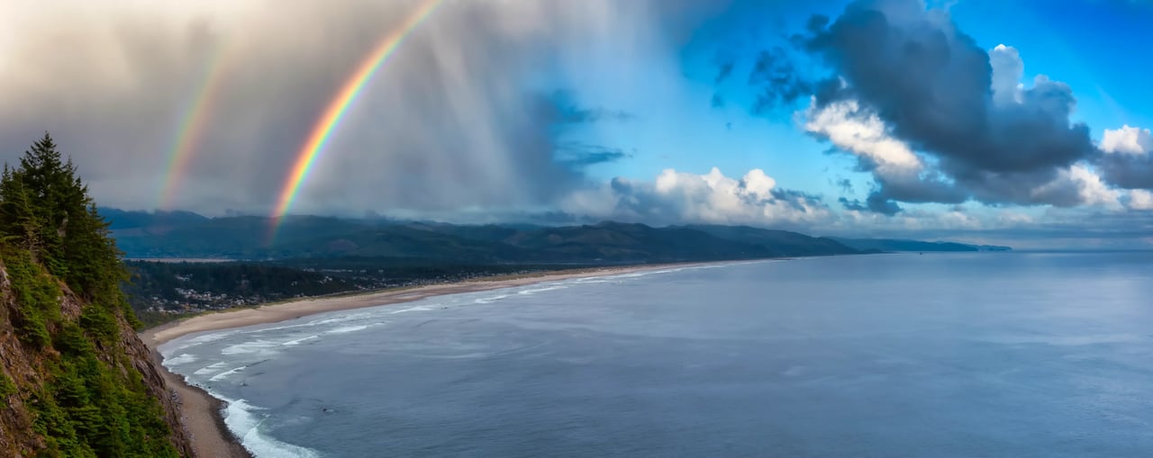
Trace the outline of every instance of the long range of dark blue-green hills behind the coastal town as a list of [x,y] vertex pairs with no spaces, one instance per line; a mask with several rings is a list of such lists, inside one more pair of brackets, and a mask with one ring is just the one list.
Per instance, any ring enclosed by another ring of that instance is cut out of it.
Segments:
[[711,226],[654,228],[601,222],[568,227],[457,226],[291,216],[273,245],[257,216],[104,209],[129,258],[405,258],[457,262],[641,264],[856,254],[797,232]]

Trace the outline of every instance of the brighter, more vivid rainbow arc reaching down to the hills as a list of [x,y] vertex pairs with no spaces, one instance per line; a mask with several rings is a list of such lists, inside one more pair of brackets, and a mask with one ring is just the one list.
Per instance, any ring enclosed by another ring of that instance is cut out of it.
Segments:
[[280,191],[280,198],[278,199],[276,211],[272,213],[272,234],[270,236],[270,242],[276,238],[277,230],[280,227],[281,221],[284,221],[285,215],[288,213],[288,208],[292,207],[293,200],[296,198],[296,193],[300,191],[301,183],[308,177],[309,170],[312,168],[312,163],[316,158],[324,150],[325,144],[329,143],[329,138],[332,136],[332,131],[336,130],[337,124],[344,117],[348,107],[360,94],[361,90],[364,89],[364,84],[372,78],[376,70],[380,68],[380,64],[392,55],[393,51],[397,51],[397,46],[408,36],[416,25],[420,25],[432,10],[440,5],[443,0],[421,0],[416,9],[413,10],[404,22],[400,23],[395,30],[389,33],[380,41],[372,53],[369,54],[361,62],[360,67],[356,68],[356,72],[345,82],[344,86],[340,87],[340,92],[337,97],[329,102],[321,119],[317,120],[316,125],[312,128],[311,133],[308,136],[308,140],[296,153],[296,162],[292,168],[292,173],[288,175],[288,181],[285,183],[284,189]]

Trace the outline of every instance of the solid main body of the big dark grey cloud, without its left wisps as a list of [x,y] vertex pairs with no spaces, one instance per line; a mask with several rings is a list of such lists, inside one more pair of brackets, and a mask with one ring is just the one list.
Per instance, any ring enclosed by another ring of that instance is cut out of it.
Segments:
[[988,52],[942,10],[857,1],[811,29],[805,48],[845,82],[822,102],[859,100],[979,199],[1034,204],[1032,189],[1095,152],[1088,128],[1069,120],[1076,99],[1063,83],[1039,77],[1018,101],[994,102]]

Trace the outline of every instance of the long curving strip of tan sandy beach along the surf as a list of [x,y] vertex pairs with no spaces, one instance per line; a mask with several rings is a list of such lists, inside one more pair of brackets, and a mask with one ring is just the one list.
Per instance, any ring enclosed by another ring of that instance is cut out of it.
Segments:
[[175,338],[190,334],[241,328],[246,326],[267,325],[294,320],[302,316],[325,312],[348,311],[385,305],[395,305],[421,300],[430,297],[489,291],[503,288],[525,287],[536,283],[586,278],[595,276],[630,274],[635,272],[661,270],[666,268],[694,267],[718,262],[677,262],[650,264],[620,267],[590,267],[565,270],[542,272],[525,275],[497,276],[465,282],[437,283],[416,288],[398,288],[383,291],[353,293],[345,296],[311,297],[257,306],[255,308],[238,308],[196,315],[169,323],[141,330],[140,338],[149,348],[152,362],[173,391],[180,406],[180,419],[193,442],[193,452],[197,457],[236,457],[251,458],[251,453],[241,444],[241,440],[232,434],[225,425],[224,400],[212,397],[198,387],[188,384],[180,374],[164,366],[164,357],[158,348]]

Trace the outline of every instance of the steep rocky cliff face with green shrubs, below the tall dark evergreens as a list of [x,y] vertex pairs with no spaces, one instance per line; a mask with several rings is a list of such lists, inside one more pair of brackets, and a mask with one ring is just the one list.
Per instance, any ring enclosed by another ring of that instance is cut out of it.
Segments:
[[[89,311],[101,306],[35,264],[20,268],[29,267],[31,282],[0,264],[0,456],[191,457],[172,392],[123,312],[108,314],[111,338],[95,337]],[[30,304],[36,289],[56,293]],[[27,315],[36,307],[54,308],[39,312],[56,319],[45,323],[44,345],[28,337]],[[68,342],[77,329],[81,339]]]

